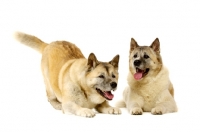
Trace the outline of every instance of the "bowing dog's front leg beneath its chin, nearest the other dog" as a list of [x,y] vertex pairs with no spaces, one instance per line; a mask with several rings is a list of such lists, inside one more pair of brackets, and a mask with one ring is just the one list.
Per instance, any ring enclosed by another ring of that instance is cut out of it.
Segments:
[[108,104],[108,101],[104,101],[102,104],[97,105],[95,109],[100,113],[121,114],[121,110],[119,108],[111,107]]

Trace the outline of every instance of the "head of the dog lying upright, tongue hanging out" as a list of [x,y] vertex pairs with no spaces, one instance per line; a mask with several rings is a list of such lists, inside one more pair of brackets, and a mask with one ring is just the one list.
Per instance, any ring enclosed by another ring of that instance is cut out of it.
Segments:
[[142,80],[149,75],[157,74],[162,67],[160,42],[156,38],[150,46],[139,46],[131,38],[129,54],[129,70],[135,80]]

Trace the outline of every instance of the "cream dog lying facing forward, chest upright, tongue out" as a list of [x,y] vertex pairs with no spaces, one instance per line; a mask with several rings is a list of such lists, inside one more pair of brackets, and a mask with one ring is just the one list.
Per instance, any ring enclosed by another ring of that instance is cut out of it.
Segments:
[[139,46],[131,38],[127,82],[117,107],[126,107],[132,115],[177,112],[174,88],[163,65],[158,38],[150,46]]

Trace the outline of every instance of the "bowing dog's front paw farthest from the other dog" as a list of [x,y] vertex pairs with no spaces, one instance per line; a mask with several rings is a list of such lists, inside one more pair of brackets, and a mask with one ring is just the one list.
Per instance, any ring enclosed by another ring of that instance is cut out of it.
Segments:
[[88,108],[81,108],[77,111],[76,115],[91,118],[95,116],[95,112]]

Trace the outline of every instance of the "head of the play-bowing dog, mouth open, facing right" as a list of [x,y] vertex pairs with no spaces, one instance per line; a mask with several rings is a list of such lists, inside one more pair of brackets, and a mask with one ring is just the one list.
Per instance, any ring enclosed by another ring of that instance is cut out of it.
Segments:
[[91,53],[88,57],[87,85],[107,100],[112,100],[112,91],[117,89],[119,55],[109,62],[100,62]]

